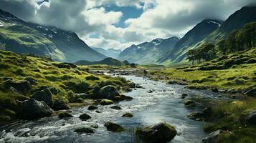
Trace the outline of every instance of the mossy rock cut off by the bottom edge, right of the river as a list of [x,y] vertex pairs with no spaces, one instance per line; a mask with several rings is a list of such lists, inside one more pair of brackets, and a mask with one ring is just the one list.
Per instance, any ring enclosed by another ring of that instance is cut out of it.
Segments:
[[202,143],[217,143],[222,141],[222,136],[229,136],[231,135],[232,132],[228,132],[228,131],[223,131],[221,129],[215,131],[215,132],[211,132],[210,134],[207,135],[207,137],[205,137],[202,140]]

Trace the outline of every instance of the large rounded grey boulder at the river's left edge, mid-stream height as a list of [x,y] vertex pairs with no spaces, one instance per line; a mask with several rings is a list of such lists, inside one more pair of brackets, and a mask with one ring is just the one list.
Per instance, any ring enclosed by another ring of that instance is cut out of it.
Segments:
[[113,100],[115,97],[119,97],[120,94],[114,86],[108,85],[100,89],[98,92],[98,99],[111,99]]

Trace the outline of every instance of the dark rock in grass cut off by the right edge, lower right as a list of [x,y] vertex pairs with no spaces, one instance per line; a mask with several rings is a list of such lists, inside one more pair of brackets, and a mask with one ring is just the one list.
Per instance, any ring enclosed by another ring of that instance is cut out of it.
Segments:
[[241,124],[255,124],[256,125],[256,110],[247,109],[240,114],[239,121]]

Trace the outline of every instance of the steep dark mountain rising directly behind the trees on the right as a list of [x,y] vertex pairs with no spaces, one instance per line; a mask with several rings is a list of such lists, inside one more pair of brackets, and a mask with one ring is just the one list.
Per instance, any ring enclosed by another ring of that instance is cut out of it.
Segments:
[[226,39],[234,30],[241,29],[247,23],[256,21],[256,6],[244,6],[228,17],[226,21],[204,20],[197,24],[191,31],[176,44],[174,50],[158,59],[158,63],[170,64],[184,61],[189,49],[196,49],[202,44],[217,44],[219,40]]

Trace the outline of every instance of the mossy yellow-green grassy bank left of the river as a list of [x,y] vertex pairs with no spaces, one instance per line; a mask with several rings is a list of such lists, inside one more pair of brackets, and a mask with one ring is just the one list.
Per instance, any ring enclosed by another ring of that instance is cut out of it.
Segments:
[[[33,84],[21,84],[28,79]],[[20,85],[19,92],[8,87],[10,81]],[[93,75],[87,69],[74,64],[60,63],[39,56],[19,56],[11,51],[0,50],[0,121],[16,119],[19,102],[28,99],[42,87],[49,88],[54,100],[68,103],[82,102],[83,99],[75,93],[91,94],[95,85],[113,85],[120,90],[128,89],[128,82],[120,77]]]

